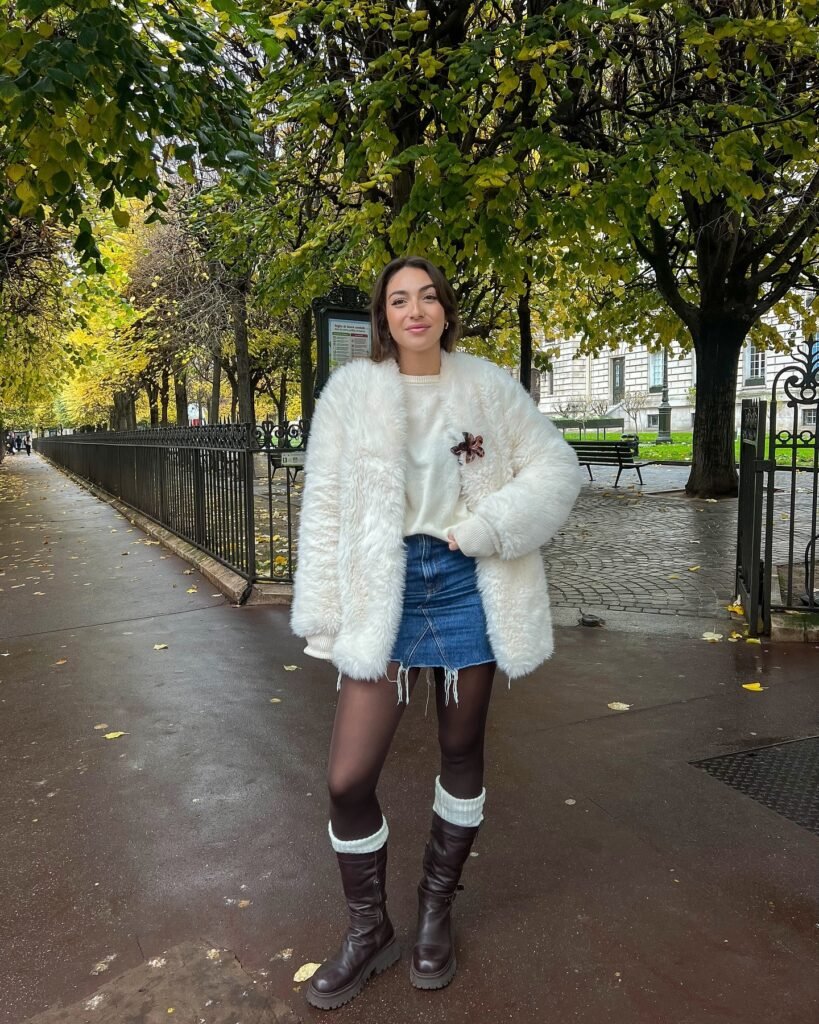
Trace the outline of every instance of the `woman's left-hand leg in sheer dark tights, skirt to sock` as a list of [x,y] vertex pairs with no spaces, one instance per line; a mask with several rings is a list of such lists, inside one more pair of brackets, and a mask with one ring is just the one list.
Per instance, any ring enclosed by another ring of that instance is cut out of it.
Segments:
[[[328,766],[330,822],[338,840],[362,839],[381,828],[376,786],[404,710],[391,682],[397,672],[391,663],[378,682],[342,678]],[[411,690],[417,679],[418,669],[410,673]]]

